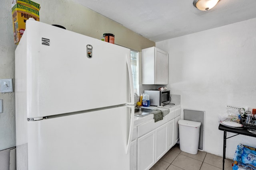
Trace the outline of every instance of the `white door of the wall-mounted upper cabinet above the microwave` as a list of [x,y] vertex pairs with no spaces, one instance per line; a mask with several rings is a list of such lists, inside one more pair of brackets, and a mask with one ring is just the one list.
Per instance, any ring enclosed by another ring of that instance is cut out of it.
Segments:
[[155,84],[168,84],[168,53],[155,48]]

